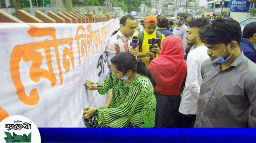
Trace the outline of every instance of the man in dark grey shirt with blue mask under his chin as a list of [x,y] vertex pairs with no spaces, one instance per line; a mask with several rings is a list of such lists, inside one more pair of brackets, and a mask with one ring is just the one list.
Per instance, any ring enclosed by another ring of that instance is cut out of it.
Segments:
[[218,18],[199,33],[210,59],[201,65],[196,128],[256,127],[256,64],[239,48],[240,24]]

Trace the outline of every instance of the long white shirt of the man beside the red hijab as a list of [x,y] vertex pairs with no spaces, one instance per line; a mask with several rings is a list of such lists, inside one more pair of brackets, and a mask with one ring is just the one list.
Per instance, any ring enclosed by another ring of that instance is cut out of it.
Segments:
[[209,58],[206,46],[199,46],[188,53],[186,60],[187,76],[179,107],[180,113],[185,115],[195,115],[197,113],[198,97],[202,83],[201,65],[204,60]]

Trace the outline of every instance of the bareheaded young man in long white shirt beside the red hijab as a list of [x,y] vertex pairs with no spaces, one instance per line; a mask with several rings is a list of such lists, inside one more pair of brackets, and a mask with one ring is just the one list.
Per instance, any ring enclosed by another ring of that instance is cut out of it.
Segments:
[[188,53],[186,60],[187,76],[179,107],[181,113],[180,127],[191,128],[196,120],[200,84],[202,82],[201,64],[204,60],[209,59],[207,47],[199,39],[199,32],[208,24],[210,24],[209,19],[200,18],[188,22],[186,29],[187,42],[194,44],[195,49]]

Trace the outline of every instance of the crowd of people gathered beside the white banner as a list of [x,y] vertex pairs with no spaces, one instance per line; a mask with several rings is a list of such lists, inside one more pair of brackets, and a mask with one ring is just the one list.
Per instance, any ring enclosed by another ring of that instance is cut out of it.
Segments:
[[242,31],[231,18],[186,18],[172,26],[149,15],[134,34],[136,19],[121,17],[106,46],[109,76],[85,82],[113,98],[84,109],[85,127],[256,127],[256,23]]

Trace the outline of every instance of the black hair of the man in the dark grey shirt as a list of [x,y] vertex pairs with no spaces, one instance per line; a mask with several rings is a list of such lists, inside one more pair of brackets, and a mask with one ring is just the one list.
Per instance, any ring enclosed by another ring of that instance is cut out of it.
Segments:
[[240,44],[242,40],[241,26],[231,18],[217,18],[213,20],[212,24],[201,30],[199,38],[203,43],[210,45],[220,43],[228,45],[233,40]]

